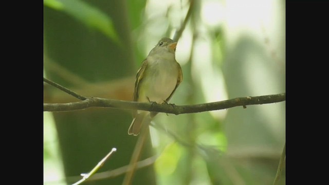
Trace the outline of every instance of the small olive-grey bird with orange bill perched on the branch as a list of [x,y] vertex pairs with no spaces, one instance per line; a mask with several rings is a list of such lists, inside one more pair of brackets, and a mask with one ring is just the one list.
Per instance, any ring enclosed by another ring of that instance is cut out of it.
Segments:
[[[136,102],[168,103],[182,81],[182,70],[175,59],[177,42],[162,38],[150,51],[137,71],[134,98]],[[157,112],[134,110],[128,134],[137,136]]]

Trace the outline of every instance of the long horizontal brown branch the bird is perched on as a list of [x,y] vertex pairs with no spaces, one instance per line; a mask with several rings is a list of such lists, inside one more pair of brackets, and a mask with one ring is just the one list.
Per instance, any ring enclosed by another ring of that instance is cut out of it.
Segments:
[[156,104],[156,103],[140,103],[134,101],[111,100],[104,98],[87,98],[80,102],[72,103],[44,103],[44,111],[49,112],[62,112],[72,110],[82,110],[90,107],[107,107],[119,109],[138,109],[148,110],[151,112],[168,113],[168,114],[187,114],[187,113],[200,113],[211,110],[221,110],[236,106],[246,105],[261,105],[267,103],[277,103],[286,100],[286,94],[280,93],[277,95],[255,96],[234,98],[225,101],[203,103],[196,105],[174,105],[174,104]]

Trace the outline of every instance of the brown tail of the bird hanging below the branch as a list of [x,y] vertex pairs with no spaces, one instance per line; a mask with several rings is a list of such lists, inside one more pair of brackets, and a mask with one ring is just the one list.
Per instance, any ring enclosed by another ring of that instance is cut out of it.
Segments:
[[129,127],[128,134],[137,136],[143,125],[149,124],[151,121],[150,112],[143,111],[136,114],[135,118],[132,121],[132,124]]

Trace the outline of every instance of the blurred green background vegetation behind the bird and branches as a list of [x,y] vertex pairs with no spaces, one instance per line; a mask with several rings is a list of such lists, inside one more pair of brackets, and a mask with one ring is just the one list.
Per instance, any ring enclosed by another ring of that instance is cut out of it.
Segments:
[[[190,105],[285,92],[285,2],[193,1],[170,102]],[[173,38],[190,1],[44,0],[44,76],[84,96],[132,100],[136,71]],[[45,103],[78,99],[44,85]],[[71,184],[112,147],[99,172],[129,164],[138,137],[127,110],[44,113],[44,184]],[[285,143],[285,103],[159,114],[133,184],[272,184]],[[155,157],[152,157],[155,156]],[[146,164],[147,162],[144,162]],[[85,184],[121,184],[124,174]],[[279,184],[285,184],[285,168]]]

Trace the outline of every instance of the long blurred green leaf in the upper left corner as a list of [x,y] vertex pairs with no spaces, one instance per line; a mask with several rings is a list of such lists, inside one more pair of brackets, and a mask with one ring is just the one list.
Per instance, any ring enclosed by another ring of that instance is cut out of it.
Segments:
[[98,8],[80,0],[44,0],[44,5],[55,10],[66,12],[87,27],[102,32],[107,38],[121,45],[111,17]]

